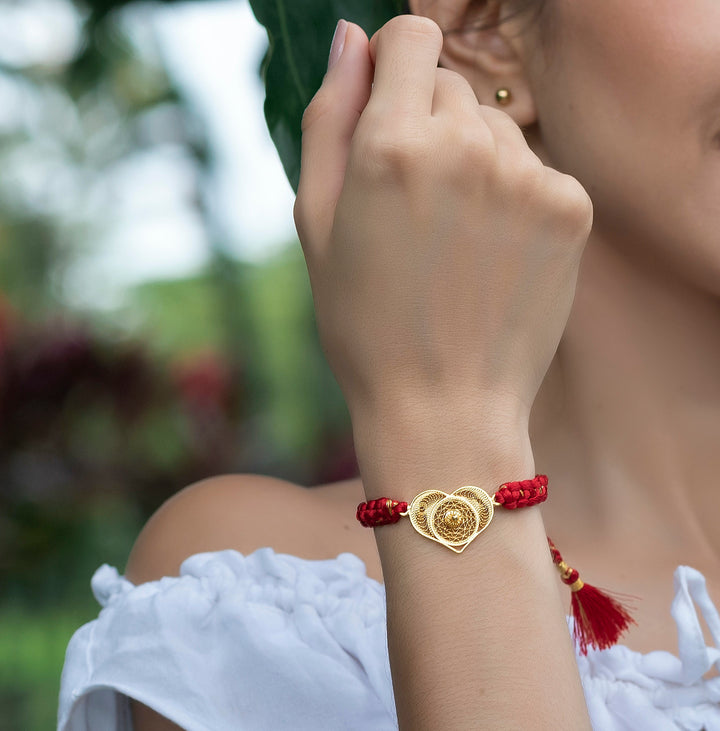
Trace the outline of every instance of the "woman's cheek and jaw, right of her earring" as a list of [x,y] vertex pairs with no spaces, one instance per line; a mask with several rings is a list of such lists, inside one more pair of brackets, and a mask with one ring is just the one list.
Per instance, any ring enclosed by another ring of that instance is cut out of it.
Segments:
[[719,294],[717,3],[549,8],[558,30],[547,66],[527,53],[532,147],[590,193],[593,241]]

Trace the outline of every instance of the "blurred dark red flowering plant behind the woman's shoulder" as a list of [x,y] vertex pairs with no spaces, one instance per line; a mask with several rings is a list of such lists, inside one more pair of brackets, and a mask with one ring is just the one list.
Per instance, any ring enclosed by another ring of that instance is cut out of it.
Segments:
[[30,325],[0,300],[4,587],[52,593],[63,567],[92,553],[83,542],[98,511],[126,511],[137,530],[179,486],[242,469],[234,394],[219,355],[166,366],[139,342]]

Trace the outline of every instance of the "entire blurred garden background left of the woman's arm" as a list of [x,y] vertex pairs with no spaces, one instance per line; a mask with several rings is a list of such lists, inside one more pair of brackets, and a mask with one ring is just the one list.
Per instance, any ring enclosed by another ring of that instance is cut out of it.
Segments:
[[[329,43],[328,38],[328,43]],[[245,0],[0,0],[0,731],[186,485],[357,474]]]

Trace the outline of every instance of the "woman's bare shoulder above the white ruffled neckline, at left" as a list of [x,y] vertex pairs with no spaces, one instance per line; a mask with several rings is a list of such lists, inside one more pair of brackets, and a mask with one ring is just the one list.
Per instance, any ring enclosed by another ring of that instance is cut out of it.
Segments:
[[149,518],[124,575],[137,585],[177,576],[183,561],[197,553],[230,548],[248,555],[270,546],[306,559],[356,553],[371,562],[368,575],[381,580],[372,531],[355,520],[362,499],[359,480],[312,488],[256,474],[202,480],[170,497]]

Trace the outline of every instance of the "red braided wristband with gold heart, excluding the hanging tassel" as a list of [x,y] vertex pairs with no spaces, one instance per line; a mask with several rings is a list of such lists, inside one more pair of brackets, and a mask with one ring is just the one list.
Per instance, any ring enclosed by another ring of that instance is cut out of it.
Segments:
[[374,528],[397,523],[407,515],[420,535],[462,553],[488,527],[496,507],[515,510],[545,502],[547,483],[546,475],[506,482],[492,497],[474,485],[460,487],[450,495],[440,490],[425,490],[409,505],[383,497],[360,503],[356,517],[366,528]]

